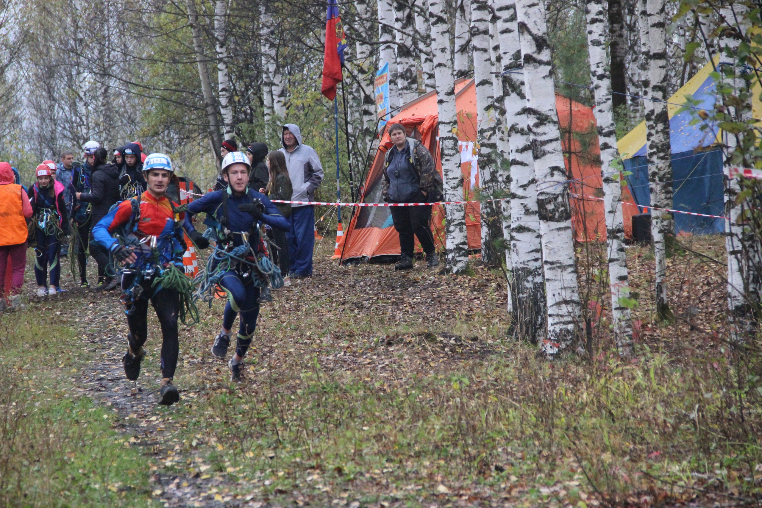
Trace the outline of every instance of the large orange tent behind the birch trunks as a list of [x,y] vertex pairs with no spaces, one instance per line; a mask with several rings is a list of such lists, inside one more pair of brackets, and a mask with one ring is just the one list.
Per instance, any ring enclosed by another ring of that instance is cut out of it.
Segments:
[[[584,196],[599,196],[600,184],[600,152],[596,133],[593,110],[576,101],[556,96],[556,109],[562,133],[562,148],[565,152],[567,170],[575,178],[571,191]],[[458,118],[458,144],[460,149],[463,172],[464,200],[474,200],[473,189],[479,187],[479,171],[475,167],[477,117],[476,91],[474,80],[461,78],[455,84],[455,104]],[[442,172],[439,145],[437,142],[437,93],[430,91],[414,101],[402,106],[395,117],[387,125],[402,123],[407,129],[408,136],[420,140],[434,155],[434,164]],[[568,131],[568,132],[567,132]],[[392,147],[389,133],[383,137],[367,173],[365,183],[360,191],[360,203],[383,203],[381,196],[381,176],[386,151]],[[584,200],[572,196],[572,223],[575,226],[575,238],[578,241],[594,241],[606,238],[604,206],[600,201]],[[466,232],[469,249],[482,248],[481,216],[479,203],[466,205]],[[431,212],[431,231],[434,233],[434,244],[437,250],[444,248],[444,210],[442,206],[434,206]],[[416,250],[421,251],[420,244]],[[387,206],[361,206],[354,213],[352,220],[344,232],[344,251],[341,262],[360,260],[362,258],[375,260],[390,260],[399,256],[399,235],[392,225],[392,214]]]

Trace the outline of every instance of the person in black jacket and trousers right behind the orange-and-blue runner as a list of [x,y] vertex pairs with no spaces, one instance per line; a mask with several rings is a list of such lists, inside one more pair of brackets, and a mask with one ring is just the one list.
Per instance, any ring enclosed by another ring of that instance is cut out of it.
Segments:
[[[95,151],[95,160],[92,172],[92,185],[89,193],[77,193],[77,199],[85,203],[92,203],[91,219],[93,224],[104,218],[111,206],[120,198],[119,192],[119,168],[107,161],[108,152],[102,146]],[[119,280],[106,273],[109,264],[109,255],[97,241],[94,241],[90,233],[90,255],[98,263],[98,289],[110,291],[117,287]]]

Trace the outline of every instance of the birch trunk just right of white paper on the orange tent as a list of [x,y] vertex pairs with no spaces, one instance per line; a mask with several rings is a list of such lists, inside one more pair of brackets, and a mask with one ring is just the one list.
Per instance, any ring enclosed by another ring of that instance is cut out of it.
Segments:
[[[493,193],[498,186],[498,168],[495,166],[498,133],[495,116],[495,88],[492,83],[489,25],[491,11],[488,0],[471,0],[471,47],[473,49],[476,87],[476,142],[479,145],[479,191]],[[482,202],[482,260],[495,266],[501,264],[501,255],[495,241],[502,238],[499,203]]]

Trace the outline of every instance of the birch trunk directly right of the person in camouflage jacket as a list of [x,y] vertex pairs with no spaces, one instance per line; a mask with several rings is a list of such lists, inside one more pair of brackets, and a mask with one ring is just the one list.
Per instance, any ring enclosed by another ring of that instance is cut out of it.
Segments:
[[[429,0],[431,50],[434,53],[434,76],[437,80],[439,114],[439,147],[444,175],[444,199],[463,201],[463,173],[460,171],[458,121],[455,106],[453,60],[450,57],[450,30],[445,0]],[[447,270],[463,271],[469,260],[466,236],[466,209],[463,205],[447,205]]]

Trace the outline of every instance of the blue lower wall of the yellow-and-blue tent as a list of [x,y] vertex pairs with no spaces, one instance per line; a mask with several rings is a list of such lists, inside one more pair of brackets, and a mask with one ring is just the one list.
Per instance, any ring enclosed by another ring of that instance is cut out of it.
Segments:
[[[625,170],[632,172],[627,176],[629,191],[639,211],[643,212],[642,207],[651,206],[648,165],[646,165],[645,157],[632,157],[623,162]],[[722,150],[673,153],[672,177],[674,179],[672,182],[674,209],[722,216],[725,191],[722,177]],[[697,235],[721,233],[725,231],[725,220],[675,213],[674,228],[675,232],[690,232]]]

